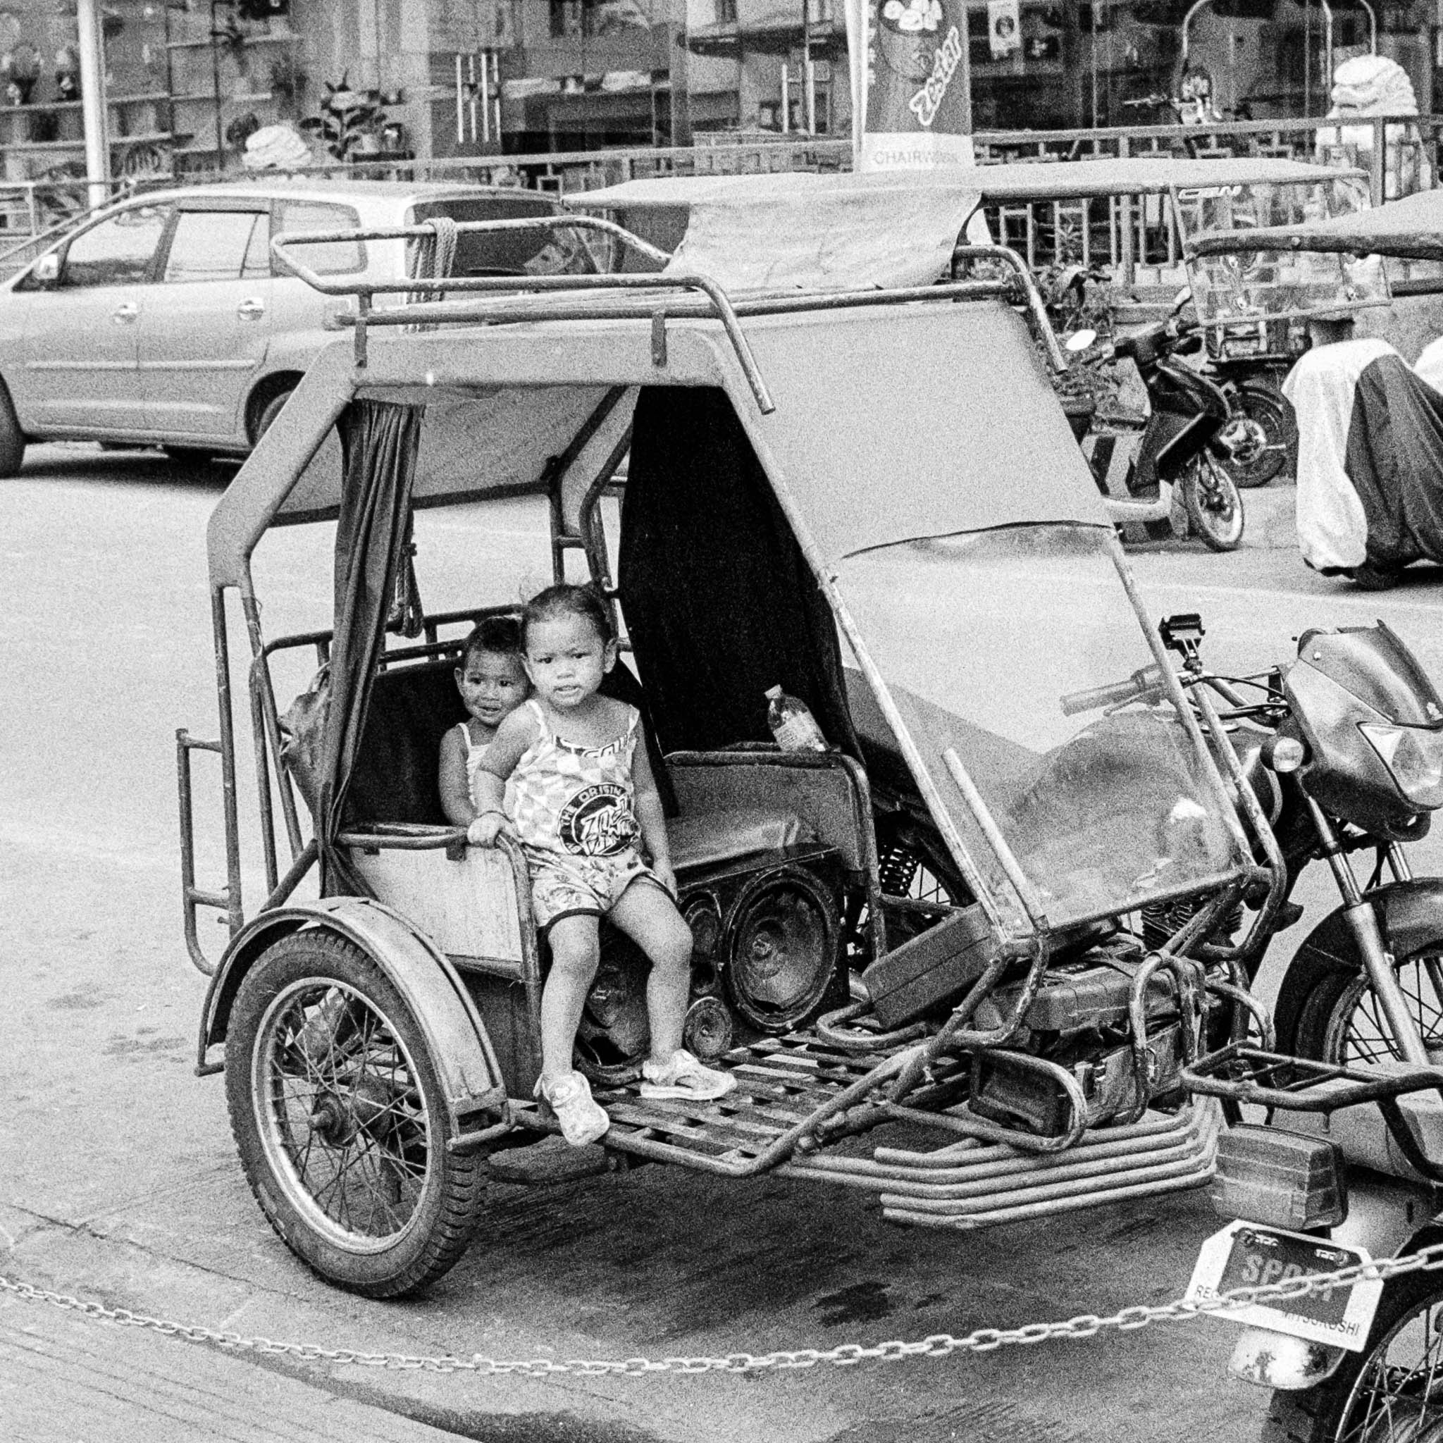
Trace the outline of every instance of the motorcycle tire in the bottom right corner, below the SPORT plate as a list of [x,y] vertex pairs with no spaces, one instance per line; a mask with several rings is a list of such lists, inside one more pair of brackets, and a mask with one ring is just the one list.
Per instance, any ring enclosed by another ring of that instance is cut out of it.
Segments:
[[1437,1439],[1443,1395],[1436,1385],[1420,1390],[1418,1380],[1443,1361],[1440,1323],[1443,1281],[1436,1273],[1403,1273],[1390,1280],[1364,1351],[1345,1354],[1338,1371],[1313,1388],[1274,1392],[1263,1443]]

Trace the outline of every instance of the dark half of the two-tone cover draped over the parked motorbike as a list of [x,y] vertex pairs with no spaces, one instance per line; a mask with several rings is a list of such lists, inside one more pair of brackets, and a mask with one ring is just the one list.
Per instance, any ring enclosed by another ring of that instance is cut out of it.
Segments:
[[1343,466],[1368,521],[1368,561],[1443,561],[1443,395],[1403,356],[1378,356],[1358,377]]

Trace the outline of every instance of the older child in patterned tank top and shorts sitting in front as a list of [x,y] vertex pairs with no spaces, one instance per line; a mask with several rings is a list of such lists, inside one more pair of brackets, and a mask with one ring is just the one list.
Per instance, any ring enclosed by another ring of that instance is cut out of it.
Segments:
[[571,1066],[600,961],[603,916],[651,960],[651,1056],[642,1063],[642,1095],[716,1098],[734,1079],[704,1068],[681,1046],[691,931],[674,900],[667,823],[646,747],[638,746],[636,709],[599,693],[616,665],[610,613],[584,587],[548,587],[522,613],[521,645],[535,696],[501,723],[486,747],[476,772],[481,814],[469,837],[489,846],[505,830],[525,847],[537,926],[551,947],[537,1095],[566,1140],[582,1146],[610,1126]]

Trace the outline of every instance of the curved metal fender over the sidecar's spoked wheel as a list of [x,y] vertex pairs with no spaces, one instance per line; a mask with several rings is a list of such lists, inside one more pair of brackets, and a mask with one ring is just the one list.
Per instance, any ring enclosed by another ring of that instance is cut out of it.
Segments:
[[504,1113],[501,1068],[460,974],[430,938],[369,898],[322,898],[273,908],[237,932],[211,978],[201,1014],[203,1071],[218,1071],[206,1066],[206,1052],[225,1040],[245,974],[270,947],[303,928],[323,928],[355,942],[391,980],[426,1036],[457,1124],[481,1110]]

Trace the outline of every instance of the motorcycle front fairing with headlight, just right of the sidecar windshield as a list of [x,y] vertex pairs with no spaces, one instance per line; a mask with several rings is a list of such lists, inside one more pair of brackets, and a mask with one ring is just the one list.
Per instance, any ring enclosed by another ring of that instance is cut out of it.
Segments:
[[1299,638],[1283,688],[1320,807],[1368,831],[1417,835],[1443,807],[1443,700],[1382,622]]

